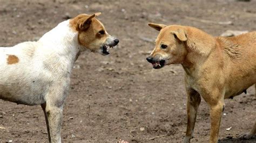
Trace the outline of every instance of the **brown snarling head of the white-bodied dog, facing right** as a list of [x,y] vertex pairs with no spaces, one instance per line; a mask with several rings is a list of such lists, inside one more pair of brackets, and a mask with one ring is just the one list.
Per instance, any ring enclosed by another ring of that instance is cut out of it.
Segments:
[[78,42],[82,45],[82,51],[89,49],[102,55],[109,54],[109,48],[119,42],[106,32],[104,25],[96,18],[101,13],[93,15],[81,14],[70,20],[70,26],[78,32]]

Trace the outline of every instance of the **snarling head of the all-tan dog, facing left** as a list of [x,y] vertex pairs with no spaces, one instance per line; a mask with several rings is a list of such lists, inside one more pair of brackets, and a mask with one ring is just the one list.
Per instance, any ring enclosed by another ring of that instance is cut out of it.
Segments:
[[187,50],[186,30],[183,26],[149,23],[149,26],[160,31],[150,56],[146,59],[152,63],[153,68],[159,69],[165,65],[183,63]]

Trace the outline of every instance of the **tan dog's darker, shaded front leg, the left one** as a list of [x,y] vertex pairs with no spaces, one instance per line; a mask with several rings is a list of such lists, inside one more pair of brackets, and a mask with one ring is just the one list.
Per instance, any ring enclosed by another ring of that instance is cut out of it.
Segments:
[[197,110],[201,97],[196,90],[187,89],[187,130],[184,142],[190,142],[193,136],[194,124],[196,123]]

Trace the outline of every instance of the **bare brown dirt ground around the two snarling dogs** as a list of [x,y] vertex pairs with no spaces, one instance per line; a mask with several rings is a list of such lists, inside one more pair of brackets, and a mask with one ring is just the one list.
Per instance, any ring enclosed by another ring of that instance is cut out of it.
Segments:
[[[186,130],[184,71],[180,65],[152,69],[145,58],[158,32],[148,22],[198,27],[212,35],[256,30],[256,1],[24,1],[0,0],[0,46],[37,40],[65,19],[102,12],[98,18],[120,43],[111,54],[82,54],[71,77],[62,139],[75,142],[181,142]],[[192,18],[211,20],[205,23]],[[216,22],[229,22],[221,25]],[[146,38],[146,40],[145,40]],[[144,40],[143,40],[144,39]],[[254,88],[226,99],[220,142],[239,140],[256,117]],[[40,105],[0,100],[0,141],[48,141]],[[232,127],[227,131],[226,128]],[[208,107],[201,102],[192,142],[207,142]],[[165,135],[150,140],[149,138]]]

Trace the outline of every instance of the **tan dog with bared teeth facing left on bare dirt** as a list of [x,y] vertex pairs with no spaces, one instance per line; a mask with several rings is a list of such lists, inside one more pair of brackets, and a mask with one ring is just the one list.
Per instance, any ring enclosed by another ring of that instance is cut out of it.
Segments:
[[[160,31],[156,47],[147,61],[153,68],[181,64],[185,70],[187,92],[187,130],[190,142],[201,97],[210,106],[210,142],[217,142],[225,98],[232,98],[256,83],[256,32],[237,37],[212,37],[189,26],[149,23]],[[240,135],[249,139],[256,133]]]

